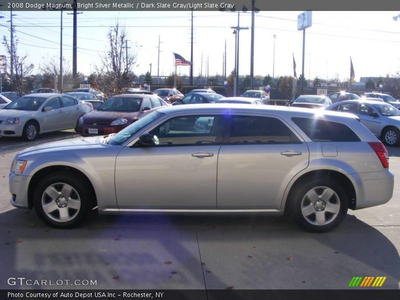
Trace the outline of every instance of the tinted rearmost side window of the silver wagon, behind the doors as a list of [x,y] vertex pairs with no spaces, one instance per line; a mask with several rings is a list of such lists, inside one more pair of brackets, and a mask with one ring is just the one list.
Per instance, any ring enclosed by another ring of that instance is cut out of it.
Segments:
[[347,125],[306,117],[292,117],[292,121],[312,141],[360,141]]

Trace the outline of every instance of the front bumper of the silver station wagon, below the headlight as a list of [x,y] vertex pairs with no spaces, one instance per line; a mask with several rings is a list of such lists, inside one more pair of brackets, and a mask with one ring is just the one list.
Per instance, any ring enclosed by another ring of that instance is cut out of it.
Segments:
[[28,184],[31,176],[9,174],[8,185],[11,193],[11,204],[18,208],[28,209]]

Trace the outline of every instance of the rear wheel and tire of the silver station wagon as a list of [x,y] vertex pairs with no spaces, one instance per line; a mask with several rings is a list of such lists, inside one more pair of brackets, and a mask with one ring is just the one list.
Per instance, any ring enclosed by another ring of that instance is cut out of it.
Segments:
[[343,221],[348,208],[345,190],[327,176],[302,180],[293,187],[288,200],[290,215],[310,232],[332,230]]

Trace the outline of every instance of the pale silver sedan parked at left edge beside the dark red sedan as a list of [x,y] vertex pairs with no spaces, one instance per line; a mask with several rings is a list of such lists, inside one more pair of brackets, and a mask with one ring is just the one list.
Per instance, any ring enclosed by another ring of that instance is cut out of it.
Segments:
[[76,129],[79,117],[91,110],[65,94],[24,95],[0,110],[0,136],[34,140],[39,133]]

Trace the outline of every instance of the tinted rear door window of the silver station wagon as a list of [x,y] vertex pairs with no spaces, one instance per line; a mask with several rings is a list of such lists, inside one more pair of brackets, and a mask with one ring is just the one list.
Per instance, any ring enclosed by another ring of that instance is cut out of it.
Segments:
[[232,116],[230,144],[299,143],[298,137],[279,119],[265,116]]

